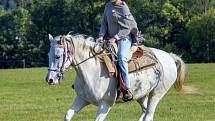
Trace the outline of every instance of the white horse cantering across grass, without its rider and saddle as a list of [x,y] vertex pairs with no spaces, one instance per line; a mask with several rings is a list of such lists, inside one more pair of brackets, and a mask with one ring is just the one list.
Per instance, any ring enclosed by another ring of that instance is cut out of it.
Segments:
[[[64,120],[70,121],[76,112],[93,104],[97,106],[95,121],[103,121],[116,102],[117,79],[109,76],[105,64],[92,53],[91,48],[96,44],[94,39],[82,35],[55,38],[49,35],[49,40],[51,48],[46,81],[53,85],[59,83],[70,65],[77,73],[73,82],[77,96]],[[159,63],[129,74],[134,100],[140,104],[143,111],[139,121],[153,121],[161,98],[173,84],[177,91],[182,90],[185,78],[185,64],[180,57],[162,50],[150,49]]]

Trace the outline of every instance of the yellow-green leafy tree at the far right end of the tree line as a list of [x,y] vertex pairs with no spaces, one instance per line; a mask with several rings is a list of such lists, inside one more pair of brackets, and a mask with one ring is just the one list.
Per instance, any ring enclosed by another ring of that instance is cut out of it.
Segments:
[[187,24],[190,53],[197,62],[215,61],[215,9],[194,16]]

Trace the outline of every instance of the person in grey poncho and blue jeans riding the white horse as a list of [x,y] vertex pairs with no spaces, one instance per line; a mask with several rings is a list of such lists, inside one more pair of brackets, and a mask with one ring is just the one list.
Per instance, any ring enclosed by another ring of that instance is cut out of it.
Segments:
[[130,13],[125,0],[110,0],[104,10],[103,21],[101,23],[99,37],[100,41],[109,38],[109,44],[118,44],[118,63],[123,80],[127,87],[124,99],[132,100],[131,88],[128,76],[128,53],[132,43],[138,41],[139,31],[137,23]]

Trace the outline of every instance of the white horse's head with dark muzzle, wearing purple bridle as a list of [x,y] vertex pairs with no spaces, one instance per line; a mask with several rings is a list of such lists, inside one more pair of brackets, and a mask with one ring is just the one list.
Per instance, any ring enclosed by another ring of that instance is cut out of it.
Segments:
[[49,67],[46,81],[50,85],[55,85],[63,79],[64,71],[72,63],[72,39],[61,35],[53,37],[49,34],[49,40]]

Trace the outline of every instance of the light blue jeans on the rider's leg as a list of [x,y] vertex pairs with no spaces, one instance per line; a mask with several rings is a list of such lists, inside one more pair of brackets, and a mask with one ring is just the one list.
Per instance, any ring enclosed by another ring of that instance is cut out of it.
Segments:
[[131,87],[130,80],[128,78],[128,54],[131,48],[131,44],[132,39],[130,35],[118,41],[118,63],[122,77],[125,81],[125,86],[128,89],[130,89]]

